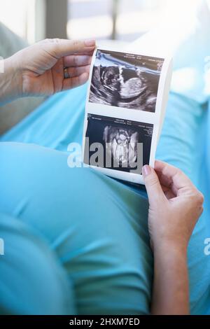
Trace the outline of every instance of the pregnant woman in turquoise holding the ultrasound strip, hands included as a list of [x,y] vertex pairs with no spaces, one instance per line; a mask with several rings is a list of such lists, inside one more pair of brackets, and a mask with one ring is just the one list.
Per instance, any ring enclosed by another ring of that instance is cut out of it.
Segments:
[[[52,39],[6,59],[0,102],[83,85],[94,47]],[[81,141],[85,92],[53,96],[0,139],[0,313],[207,314],[204,197],[186,176],[199,176],[202,106],[171,95],[158,156],[180,169],[144,167],[147,199],[67,166],[67,145]]]

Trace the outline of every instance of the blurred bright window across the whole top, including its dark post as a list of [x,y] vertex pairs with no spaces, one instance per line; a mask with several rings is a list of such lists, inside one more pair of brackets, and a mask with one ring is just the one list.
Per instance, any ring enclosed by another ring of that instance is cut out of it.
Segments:
[[[30,43],[45,37],[66,37],[66,29],[69,38],[133,41],[164,21],[170,24],[175,20],[179,28],[181,16],[185,22],[181,28],[187,27],[191,21],[190,12],[193,13],[193,8],[199,2],[200,0],[0,0],[0,22]],[[66,18],[61,18],[66,14],[67,26]]]

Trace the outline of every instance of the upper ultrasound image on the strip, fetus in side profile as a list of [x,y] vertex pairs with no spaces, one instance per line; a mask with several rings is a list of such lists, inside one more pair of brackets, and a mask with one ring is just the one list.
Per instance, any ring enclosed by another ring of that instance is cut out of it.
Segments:
[[164,59],[97,50],[91,103],[155,112]]

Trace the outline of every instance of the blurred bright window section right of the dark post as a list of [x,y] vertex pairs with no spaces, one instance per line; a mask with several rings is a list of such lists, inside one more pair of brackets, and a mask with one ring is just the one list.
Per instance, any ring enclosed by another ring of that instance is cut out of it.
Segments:
[[166,0],[69,0],[69,38],[132,41],[157,25]]

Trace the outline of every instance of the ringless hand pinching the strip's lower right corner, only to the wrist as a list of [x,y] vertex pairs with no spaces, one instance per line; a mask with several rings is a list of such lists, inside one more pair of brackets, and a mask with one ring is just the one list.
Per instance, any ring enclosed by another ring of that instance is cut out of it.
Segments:
[[188,177],[165,162],[156,161],[155,170],[143,169],[148,193],[148,228],[154,251],[159,248],[188,247],[203,211],[204,197]]

